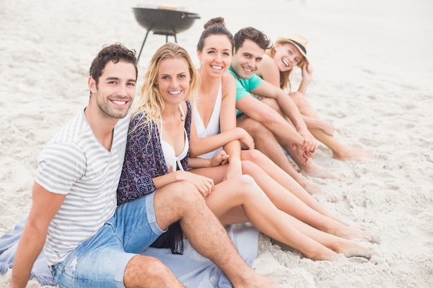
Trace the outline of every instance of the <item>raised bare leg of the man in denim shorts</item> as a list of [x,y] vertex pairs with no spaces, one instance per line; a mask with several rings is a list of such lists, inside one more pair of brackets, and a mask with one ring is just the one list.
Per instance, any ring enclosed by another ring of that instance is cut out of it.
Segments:
[[190,182],[175,182],[158,189],[154,206],[161,229],[180,220],[186,238],[201,255],[210,258],[235,288],[279,287],[253,271],[234,248],[227,232]]

